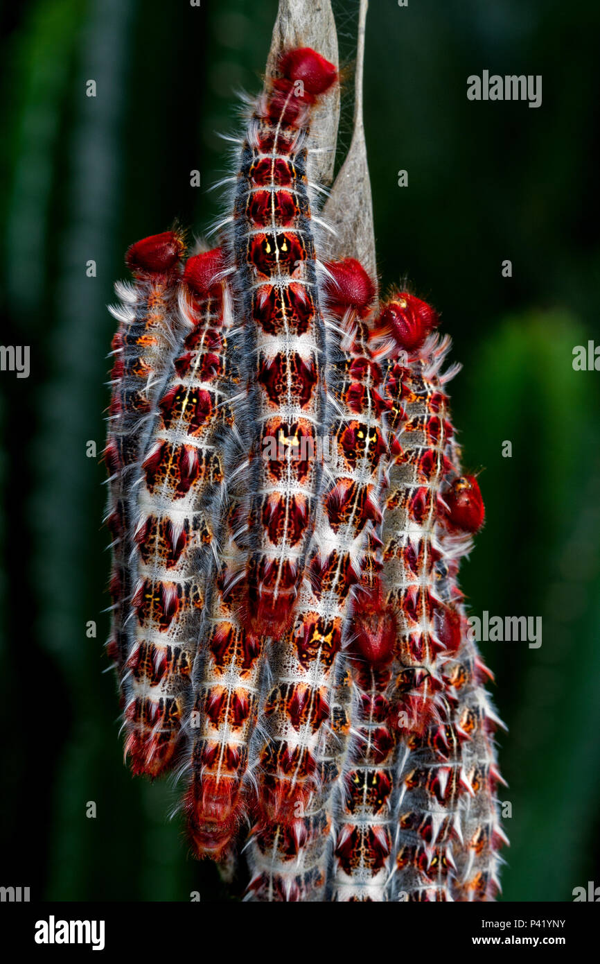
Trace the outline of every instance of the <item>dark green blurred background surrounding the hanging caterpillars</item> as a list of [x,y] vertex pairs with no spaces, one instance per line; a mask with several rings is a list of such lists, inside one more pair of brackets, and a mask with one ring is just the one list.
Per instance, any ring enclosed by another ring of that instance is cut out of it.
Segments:
[[[356,3],[335,9],[352,76]],[[259,88],[275,12],[274,0],[28,0],[0,14],[2,342],[31,346],[29,379],[0,373],[0,882],[34,899],[227,899],[167,819],[169,784],[121,763],[102,675],[104,471],[86,446],[99,453],[105,434],[105,305],[125,248],[174,215],[197,233],[216,216],[216,132],[235,129],[236,91]],[[483,468],[487,523],[462,584],[474,614],[543,618],[540,649],[483,645],[509,726],[503,898],[570,900],[594,873],[600,884],[600,375],[572,368],[575,345],[600,342],[600,7],[372,0],[367,28],[382,285],[407,276],[442,311],[464,364],[452,393],[465,466]],[[542,106],[468,101],[466,78],[484,68],[541,74]]]

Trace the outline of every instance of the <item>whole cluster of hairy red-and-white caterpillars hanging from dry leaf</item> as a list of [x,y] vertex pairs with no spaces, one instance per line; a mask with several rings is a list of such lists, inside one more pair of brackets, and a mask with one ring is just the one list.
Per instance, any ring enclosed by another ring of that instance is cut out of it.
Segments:
[[124,752],[177,772],[194,855],[244,860],[250,901],[492,899],[500,721],[457,583],[483,500],[437,315],[326,256],[306,172],[336,82],[283,52],[219,246],[145,238],[117,284]]

